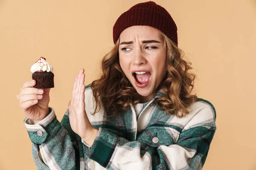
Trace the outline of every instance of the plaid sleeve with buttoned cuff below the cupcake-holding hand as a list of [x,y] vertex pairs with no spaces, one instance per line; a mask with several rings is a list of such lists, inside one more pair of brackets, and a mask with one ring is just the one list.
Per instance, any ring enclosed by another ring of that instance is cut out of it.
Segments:
[[[65,122],[65,119],[62,121]],[[33,124],[33,121],[26,118],[23,123],[32,142],[32,156],[38,169],[79,168],[79,162],[76,162],[79,160],[79,151],[74,147],[76,135],[61,126],[52,108],[49,108],[49,115],[40,122]]]

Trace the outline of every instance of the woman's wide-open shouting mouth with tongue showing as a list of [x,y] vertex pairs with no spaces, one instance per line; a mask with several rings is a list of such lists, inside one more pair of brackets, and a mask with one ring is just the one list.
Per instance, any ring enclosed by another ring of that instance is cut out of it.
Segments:
[[132,75],[138,88],[145,88],[151,79],[151,73],[146,71],[134,72]]

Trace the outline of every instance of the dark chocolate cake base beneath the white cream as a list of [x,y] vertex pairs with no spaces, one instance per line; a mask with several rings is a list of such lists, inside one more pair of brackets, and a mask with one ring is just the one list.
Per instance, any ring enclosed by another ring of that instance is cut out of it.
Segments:
[[34,72],[32,79],[36,81],[34,88],[54,88],[54,74],[52,72]]

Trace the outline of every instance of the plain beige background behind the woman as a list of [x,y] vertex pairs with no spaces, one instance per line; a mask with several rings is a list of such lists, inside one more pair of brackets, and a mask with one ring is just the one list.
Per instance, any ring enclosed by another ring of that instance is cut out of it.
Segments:
[[[46,57],[55,74],[49,105],[61,120],[73,80],[96,78],[113,46],[116,19],[143,0],[0,0],[0,170],[35,170],[16,95]],[[155,0],[172,15],[178,44],[192,62],[198,97],[217,111],[217,131],[204,170],[256,170],[256,1]],[[253,48],[254,47],[254,48]]]

